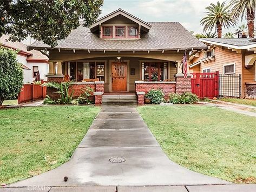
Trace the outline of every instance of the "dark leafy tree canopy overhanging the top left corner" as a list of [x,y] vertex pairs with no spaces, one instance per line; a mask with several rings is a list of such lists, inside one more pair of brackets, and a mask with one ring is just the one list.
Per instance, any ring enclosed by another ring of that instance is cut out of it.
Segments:
[[93,24],[103,0],[6,0],[0,1],[0,37],[9,41],[32,38],[55,47],[71,30]]

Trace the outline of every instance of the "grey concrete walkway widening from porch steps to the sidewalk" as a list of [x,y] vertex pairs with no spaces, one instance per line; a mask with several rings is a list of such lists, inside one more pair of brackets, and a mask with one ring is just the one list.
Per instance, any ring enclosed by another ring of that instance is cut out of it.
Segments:
[[[48,191],[116,191],[119,186],[118,191],[220,191],[207,188],[216,184],[230,191],[242,187],[170,161],[134,107],[107,106],[102,107],[69,162],[8,186],[23,188],[2,190],[50,186]],[[254,191],[256,186],[242,189]]]

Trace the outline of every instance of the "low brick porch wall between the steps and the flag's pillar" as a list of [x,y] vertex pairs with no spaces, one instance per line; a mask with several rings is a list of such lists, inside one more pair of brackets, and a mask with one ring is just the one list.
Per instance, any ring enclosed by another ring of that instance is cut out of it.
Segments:
[[[163,93],[165,94],[165,99],[168,98],[168,95],[171,92],[175,92],[175,87],[176,84],[175,83],[170,83],[170,82],[159,82],[159,83],[136,83],[136,92],[145,92],[145,94],[147,94],[147,92],[151,89],[161,89],[163,91]],[[138,101],[139,103],[139,101]]]

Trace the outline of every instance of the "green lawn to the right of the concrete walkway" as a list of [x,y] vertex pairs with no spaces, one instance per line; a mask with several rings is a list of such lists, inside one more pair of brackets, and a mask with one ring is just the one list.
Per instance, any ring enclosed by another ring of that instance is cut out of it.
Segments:
[[256,118],[201,105],[138,107],[174,162],[235,183],[256,183]]

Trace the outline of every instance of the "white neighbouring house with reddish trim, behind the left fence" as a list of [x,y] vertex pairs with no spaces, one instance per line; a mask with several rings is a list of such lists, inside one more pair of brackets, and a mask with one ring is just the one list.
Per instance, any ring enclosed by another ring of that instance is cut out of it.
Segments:
[[0,45],[14,50],[19,50],[17,60],[23,67],[23,82],[31,83],[35,81],[35,75],[38,70],[40,72],[41,80],[47,81],[46,75],[48,74],[49,69],[48,57],[37,50],[28,51],[27,45],[21,42],[9,42],[7,41],[8,38],[9,37],[6,35],[0,37]]

